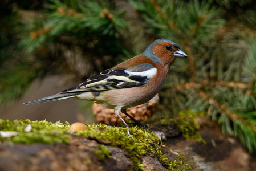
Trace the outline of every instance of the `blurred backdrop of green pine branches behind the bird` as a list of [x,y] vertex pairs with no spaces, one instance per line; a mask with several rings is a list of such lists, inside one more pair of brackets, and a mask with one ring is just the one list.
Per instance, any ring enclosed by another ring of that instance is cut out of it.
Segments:
[[90,123],[86,101],[22,102],[76,86],[166,38],[189,58],[170,67],[157,116],[203,111],[256,151],[255,1],[3,0],[0,8],[1,118]]

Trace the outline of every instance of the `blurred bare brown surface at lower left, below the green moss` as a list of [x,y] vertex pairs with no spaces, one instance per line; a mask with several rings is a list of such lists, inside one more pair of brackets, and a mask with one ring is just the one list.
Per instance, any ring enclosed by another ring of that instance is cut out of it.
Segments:
[[0,170],[133,170],[125,152],[113,146],[111,158],[95,154],[99,143],[72,136],[67,144],[0,145]]

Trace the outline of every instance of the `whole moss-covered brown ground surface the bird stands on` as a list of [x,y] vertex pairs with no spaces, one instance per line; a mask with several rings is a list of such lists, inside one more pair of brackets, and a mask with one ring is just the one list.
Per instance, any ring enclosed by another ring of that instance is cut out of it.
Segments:
[[[68,123],[0,120],[0,131],[19,133],[0,137],[0,170],[189,170],[184,162],[192,170],[254,170],[255,156],[241,143],[223,135],[218,123],[190,114],[148,120],[154,130],[165,133],[162,142],[137,127],[130,128],[133,141],[120,126],[92,124],[86,131],[70,133]],[[29,124],[31,131],[24,132]],[[196,141],[197,135],[206,144]]]

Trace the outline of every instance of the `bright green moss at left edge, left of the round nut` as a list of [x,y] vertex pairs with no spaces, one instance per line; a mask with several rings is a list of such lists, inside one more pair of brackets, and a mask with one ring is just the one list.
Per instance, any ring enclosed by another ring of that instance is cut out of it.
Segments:
[[[30,132],[24,132],[23,129],[31,124]],[[0,119],[0,131],[16,131],[17,136],[3,138],[0,136],[0,141],[10,141],[12,143],[68,143],[70,136],[67,135],[70,124],[62,124],[59,121],[51,123],[46,120],[31,121],[29,119],[21,120],[3,120]]]

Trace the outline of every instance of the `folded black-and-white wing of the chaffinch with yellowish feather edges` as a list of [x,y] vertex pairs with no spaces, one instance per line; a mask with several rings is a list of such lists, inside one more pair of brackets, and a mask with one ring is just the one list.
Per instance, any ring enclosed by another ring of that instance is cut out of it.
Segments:
[[156,72],[156,67],[149,63],[126,69],[108,69],[92,76],[79,86],[66,89],[60,93],[106,91],[109,89],[145,86]]

